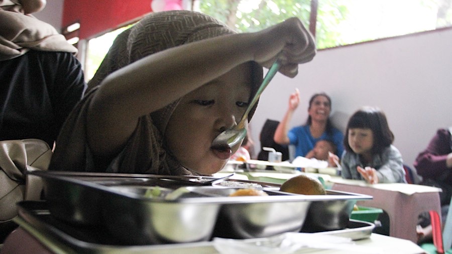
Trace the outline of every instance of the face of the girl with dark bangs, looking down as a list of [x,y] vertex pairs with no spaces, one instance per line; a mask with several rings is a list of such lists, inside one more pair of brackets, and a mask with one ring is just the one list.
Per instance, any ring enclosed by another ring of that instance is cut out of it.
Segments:
[[374,134],[371,129],[349,129],[349,145],[357,154],[369,154],[374,145]]

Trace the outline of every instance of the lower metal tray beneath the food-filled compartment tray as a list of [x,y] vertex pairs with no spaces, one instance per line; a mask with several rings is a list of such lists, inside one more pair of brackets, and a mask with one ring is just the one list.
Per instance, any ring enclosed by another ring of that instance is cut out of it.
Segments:
[[[195,251],[197,254],[215,253],[211,241],[160,245],[115,245],[105,237],[101,228],[78,227],[51,216],[46,201],[22,201],[18,203],[19,216],[15,221],[35,236],[41,243],[56,253],[155,253],[178,254]],[[374,224],[350,220],[342,230],[319,232],[352,238],[370,237]]]

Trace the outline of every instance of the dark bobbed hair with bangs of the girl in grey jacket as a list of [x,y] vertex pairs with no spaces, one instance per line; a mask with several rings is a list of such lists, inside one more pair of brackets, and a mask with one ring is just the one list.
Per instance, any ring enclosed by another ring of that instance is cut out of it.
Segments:
[[385,113],[377,107],[363,107],[349,119],[344,137],[344,148],[353,152],[349,145],[349,130],[354,128],[371,129],[374,135],[372,154],[381,153],[394,142],[394,134],[389,129]]

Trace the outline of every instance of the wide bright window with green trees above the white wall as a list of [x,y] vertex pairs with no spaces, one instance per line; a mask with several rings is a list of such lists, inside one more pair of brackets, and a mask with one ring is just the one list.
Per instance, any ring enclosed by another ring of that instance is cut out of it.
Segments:
[[318,49],[452,26],[451,0],[194,0],[193,6],[238,32],[296,16],[306,27],[315,24]]

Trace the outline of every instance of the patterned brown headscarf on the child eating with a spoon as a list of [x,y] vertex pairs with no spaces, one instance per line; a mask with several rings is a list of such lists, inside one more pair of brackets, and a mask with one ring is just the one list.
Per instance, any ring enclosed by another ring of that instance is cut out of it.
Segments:
[[[99,69],[88,83],[88,90],[99,85],[110,73],[117,71],[148,55],[182,44],[196,42],[221,35],[235,34],[223,23],[205,14],[191,11],[167,11],[152,13],[139,23],[121,33],[111,46]],[[253,65],[252,96],[263,79],[263,70]],[[251,100],[252,97],[250,97]],[[154,124],[163,134],[179,100],[151,113]],[[254,114],[257,103],[249,114]]]

